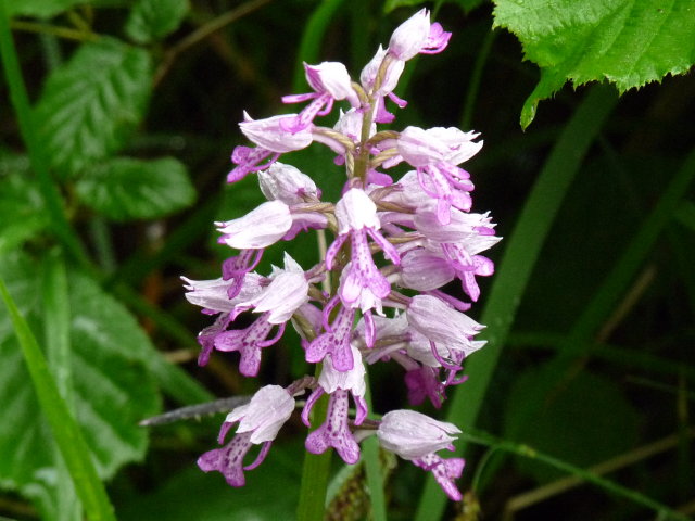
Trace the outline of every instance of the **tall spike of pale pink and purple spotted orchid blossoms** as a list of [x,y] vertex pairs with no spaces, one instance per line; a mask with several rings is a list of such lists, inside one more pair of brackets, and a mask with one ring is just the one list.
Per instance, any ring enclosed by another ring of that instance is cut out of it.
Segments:
[[[483,326],[464,314],[470,303],[441,290],[459,279],[475,302],[480,294],[476,277],[494,270],[480,255],[498,241],[494,225],[488,214],[470,212],[473,185],[458,167],[482,141],[475,141],[478,134],[457,128],[376,128],[394,119],[387,99],[406,105],[393,93],[405,62],[442,51],[450,36],[421,10],[396,28],[387,49],[378,50],[359,84],[342,63],[305,65],[313,92],[283,98],[286,103],[309,102],[299,114],[257,120],[244,115],[239,124],[255,147],[235,149],[236,167],[228,180],[256,173],[268,201],[243,217],[216,224],[219,242],[239,250],[224,262],[222,278],[185,279],[187,298],[217,315],[199,335],[199,363],[206,364],[213,350],[236,351],[239,371],[255,377],[262,351],[291,322],[302,338],[306,361],[320,364],[320,372],[287,387],[264,386],[229,414],[219,443],[238,423],[236,435],[201,456],[199,466],[222,472],[232,486],[243,485],[243,471],[263,461],[292,415],[295,397],[308,391],[303,422],[309,427],[312,408],[323,395],[328,395],[328,411],[308,434],[307,450],[320,454],[332,447],[345,462],[355,463],[359,442],[376,433],[383,448],[431,471],[451,498],[460,499],[454,480],[463,471],[463,459],[437,454],[453,449],[460,431],[412,410],[367,420],[365,402],[365,365],[394,361],[404,370],[409,402],[418,405],[429,398],[440,407],[445,389],[464,380],[465,357],[484,344],[473,340]],[[314,123],[341,100],[350,109],[340,111],[332,128]],[[311,177],[278,162],[281,154],[313,142],[328,145],[337,154],[336,164],[344,165],[346,182],[336,204],[321,200]],[[402,162],[413,169],[394,182],[383,170]],[[269,276],[253,271],[266,247],[309,229],[334,237],[317,265],[304,269],[286,254],[285,266],[274,267]],[[375,260],[379,251],[381,266]],[[233,329],[245,312],[257,318]],[[262,445],[260,454],[244,466],[253,445]]]

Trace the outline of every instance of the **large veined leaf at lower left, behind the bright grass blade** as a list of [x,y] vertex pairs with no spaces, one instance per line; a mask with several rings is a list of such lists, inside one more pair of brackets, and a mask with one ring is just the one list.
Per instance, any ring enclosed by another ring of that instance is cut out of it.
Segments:
[[[11,282],[9,291],[33,325],[42,315],[40,269],[18,253],[0,258],[0,277]],[[144,369],[153,347],[129,313],[89,278],[70,277],[70,301],[74,414],[99,476],[108,479],[144,455],[147,432],[137,422],[159,411],[156,386]],[[41,469],[53,468],[52,441],[11,326],[0,318],[0,483],[18,490],[40,483]]]

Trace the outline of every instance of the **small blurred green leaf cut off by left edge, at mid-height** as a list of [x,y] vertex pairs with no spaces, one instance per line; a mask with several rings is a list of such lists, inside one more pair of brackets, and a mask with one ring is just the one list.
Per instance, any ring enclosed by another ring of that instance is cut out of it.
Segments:
[[48,226],[28,158],[0,150],[0,254],[15,250]]

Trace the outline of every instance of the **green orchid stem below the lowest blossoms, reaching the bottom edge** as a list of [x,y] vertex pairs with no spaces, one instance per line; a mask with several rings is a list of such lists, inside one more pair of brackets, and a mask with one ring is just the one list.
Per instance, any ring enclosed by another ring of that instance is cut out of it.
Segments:
[[[316,366],[316,376],[320,374],[320,364]],[[313,418],[326,418],[328,395],[321,396],[312,410]],[[318,428],[318,425],[317,425]],[[330,462],[333,449],[324,454],[304,454],[300,503],[296,508],[298,521],[317,521],[324,519],[326,511],[326,492],[330,476]]]

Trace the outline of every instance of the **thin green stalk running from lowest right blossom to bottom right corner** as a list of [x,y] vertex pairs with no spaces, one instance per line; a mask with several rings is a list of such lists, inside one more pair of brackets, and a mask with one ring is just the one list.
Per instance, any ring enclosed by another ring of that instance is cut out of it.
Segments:
[[673,519],[680,521],[688,521],[690,518],[682,513],[677,512],[670,507],[652,499],[644,494],[635,492],[631,488],[627,488],[615,481],[607,480],[602,478],[601,475],[590,472],[589,470],[576,467],[567,461],[563,461],[561,459],[557,459],[547,454],[541,453],[533,447],[523,444],[517,444],[507,442],[505,440],[500,440],[491,434],[483,433],[481,431],[469,431],[466,434],[462,435],[463,439],[470,443],[475,443],[478,445],[483,445],[486,447],[492,447],[497,450],[504,450],[510,454],[516,454],[518,456],[522,456],[525,458],[534,459],[536,461],[541,461],[549,467],[567,472],[568,474],[574,475],[586,483],[591,483],[604,492],[629,499],[632,503],[637,505],[642,505],[643,507],[649,508],[657,512],[659,516],[665,516],[665,519]]

